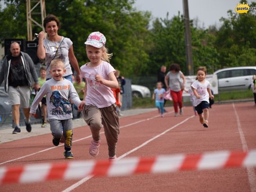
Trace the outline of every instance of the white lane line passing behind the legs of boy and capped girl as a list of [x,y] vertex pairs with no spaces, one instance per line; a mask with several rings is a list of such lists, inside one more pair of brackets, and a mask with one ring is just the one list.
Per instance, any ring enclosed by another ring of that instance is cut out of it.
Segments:
[[[173,113],[173,111],[168,112],[168,113],[166,113],[166,114],[169,114],[169,113]],[[154,119],[154,118],[156,118],[156,117],[159,117],[159,115],[156,115],[156,116],[151,117],[151,118],[146,118],[146,119],[143,119],[143,120],[139,120],[139,121],[136,121],[136,122],[131,123],[131,124],[128,124],[128,125],[120,126],[120,129],[121,129],[121,128],[124,128],[124,127],[131,126],[131,125],[135,125],[135,124],[138,124],[138,123],[141,123],[141,122],[144,122],[144,121],[148,121],[148,120]],[[104,134],[104,132],[101,132],[100,134]],[[78,139],[78,140],[75,140],[75,141],[73,141],[73,143],[74,143],[74,142],[79,142],[79,141],[82,141],[82,140],[88,139],[88,138],[91,138],[91,135],[86,136],[86,137],[83,137],[83,138]],[[59,146],[56,146],[56,147],[61,147],[61,146],[64,146],[64,144],[60,144]],[[30,156],[32,156],[32,155],[36,155],[36,154],[38,154],[38,153],[45,152],[45,151],[47,151],[47,150],[52,150],[52,149],[55,149],[56,147],[50,147],[50,148],[48,148],[48,149],[40,150],[40,151],[37,151],[37,152],[35,152],[35,153],[31,153],[31,154],[28,154],[28,155],[25,155],[25,156],[22,156],[22,157],[19,157],[19,158],[16,158],[16,159],[10,159],[10,160],[8,160],[8,161],[1,162],[0,165],[6,164],[6,163],[9,163],[9,162],[13,162],[13,161],[16,161],[16,160],[19,160],[19,159],[27,158],[27,157],[30,157]]]

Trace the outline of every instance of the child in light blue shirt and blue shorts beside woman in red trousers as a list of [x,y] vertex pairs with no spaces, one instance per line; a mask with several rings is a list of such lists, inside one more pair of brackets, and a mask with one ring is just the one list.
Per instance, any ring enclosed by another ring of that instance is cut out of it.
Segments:
[[161,113],[161,117],[164,117],[164,93],[165,89],[163,88],[162,82],[156,83],[156,89],[152,95],[152,100],[155,100],[155,106],[158,109],[158,112]]

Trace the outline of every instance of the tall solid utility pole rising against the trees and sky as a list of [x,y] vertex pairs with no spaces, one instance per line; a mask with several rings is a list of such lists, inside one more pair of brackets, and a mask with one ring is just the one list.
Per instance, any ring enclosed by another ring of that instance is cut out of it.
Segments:
[[192,58],[192,43],[191,43],[190,22],[189,22],[188,0],[183,0],[183,13],[184,13],[184,25],[185,25],[185,43],[186,43],[187,70],[188,70],[188,74],[189,75],[194,75],[193,58]]

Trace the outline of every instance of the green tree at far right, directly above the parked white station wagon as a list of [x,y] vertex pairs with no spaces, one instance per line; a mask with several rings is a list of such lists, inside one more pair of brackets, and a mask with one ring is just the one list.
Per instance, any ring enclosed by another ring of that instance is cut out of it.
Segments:
[[[245,2],[246,3],[246,2]],[[252,2],[250,7],[256,7]],[[219,50],[219,68],[254,66],[256,63],[256,12],[238,14],[228,11],[229,18],[216,32],[215,47]]]

